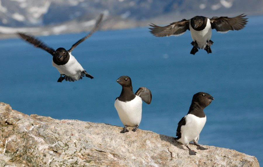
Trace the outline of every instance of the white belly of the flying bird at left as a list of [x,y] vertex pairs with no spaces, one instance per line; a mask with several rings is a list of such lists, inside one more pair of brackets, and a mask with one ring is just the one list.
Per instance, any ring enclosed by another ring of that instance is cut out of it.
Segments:
[[84,71],[83,67],[71,54],[68,63],[64,65],[57,65],[52,60],[52,65],[56,67],[60,74],[65,74],[75,80],[79,80],[81,72]]

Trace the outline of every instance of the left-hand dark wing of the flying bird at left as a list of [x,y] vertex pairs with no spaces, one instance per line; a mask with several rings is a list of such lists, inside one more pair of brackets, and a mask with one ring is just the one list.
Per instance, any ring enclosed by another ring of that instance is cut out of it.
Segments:
[[22,39],[32,43],[35,47],[39,47],[49,52],[52,56],[56,55],[56,51],[50,47],[47,47],[43,42],[35,38],[34,36],[26,35],[25,33],[17,33]]

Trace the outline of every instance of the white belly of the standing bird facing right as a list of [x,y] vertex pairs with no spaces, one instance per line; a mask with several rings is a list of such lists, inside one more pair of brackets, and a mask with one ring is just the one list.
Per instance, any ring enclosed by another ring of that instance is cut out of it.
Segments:
[[199,118],[193,114],[185,116],[186,124],[181,126],[181,138],[177,141],[188,145],[192,140],[198,141],[199,134],[205,126],[206,116]]

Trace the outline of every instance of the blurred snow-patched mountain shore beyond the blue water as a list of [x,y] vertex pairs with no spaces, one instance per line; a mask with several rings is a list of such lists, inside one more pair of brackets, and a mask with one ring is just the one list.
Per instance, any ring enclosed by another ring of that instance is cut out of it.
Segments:
[[[87,31],[100,13],[105,16],[102,29],[122,29],[146,26],[155,20],[167,24],[194,15],[261,15],[263,1],[0,0],[0,38],[17,30],[33,33],[41,30],[42,34]],[[61,25],[64,25],[61,31],[61,27],[52,30]]]

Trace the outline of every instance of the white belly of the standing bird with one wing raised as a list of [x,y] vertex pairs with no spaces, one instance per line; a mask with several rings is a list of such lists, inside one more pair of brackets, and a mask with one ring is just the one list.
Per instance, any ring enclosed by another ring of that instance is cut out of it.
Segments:
[[136,96],[130,102],[115,100],[114,106],[124,126],[135,127],[141,122],[142,100]]

